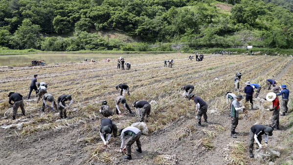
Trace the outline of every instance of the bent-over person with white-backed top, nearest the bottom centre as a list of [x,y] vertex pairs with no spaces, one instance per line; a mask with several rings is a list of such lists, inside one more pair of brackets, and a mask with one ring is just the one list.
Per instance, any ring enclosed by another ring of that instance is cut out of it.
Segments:
[[[134,127],[134,126],[128,126],[126,128],[120,128],[119,129],[119,134],[121,135],[121,147],[120,147],[120,152],[122,153],[123,150],[126,150],[127,152],[127,156],[124,156],[123,158],[124,159],[127,159],[127,160],[131,160],[132,157],[131,157],[131,145],[134,144],[134,142],[136,142],[136,145],[138,148],[136,148],[136,151],[138,151],[139,153],[142,153],[142,144],[140,142],[140,137],[142,135],[142,132]],[[126,146],[123,148],[124,144],[125,144],[125,138],[129,137],[128,138],[128,141],[126,142]]]

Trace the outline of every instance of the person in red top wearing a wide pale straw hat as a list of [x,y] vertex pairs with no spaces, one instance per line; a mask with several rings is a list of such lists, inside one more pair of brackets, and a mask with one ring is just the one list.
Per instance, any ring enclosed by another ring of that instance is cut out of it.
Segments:
[[272,102],[272,109],[270,109],[270,111],[272,111],[271,126],[275,129],[280,129],[279,128],[279,113],[280,113],[279,99],[276,96],[276,94],[273,92],[268,93],[266,99],[267,101]]

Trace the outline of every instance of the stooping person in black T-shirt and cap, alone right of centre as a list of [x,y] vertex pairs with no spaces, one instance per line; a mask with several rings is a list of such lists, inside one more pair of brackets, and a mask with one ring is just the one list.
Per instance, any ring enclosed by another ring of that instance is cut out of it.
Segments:
[[194,96],[194,94],[188,95],[189,100],[192,99],[196,103],[196,112],[197,112],[197,124],[196,126],[201,126],[201,117],[204,115],[205,123],[208,123],[208,116],[207,116],[207,110],[208,105],[206,102],[204,102],[201,98]]

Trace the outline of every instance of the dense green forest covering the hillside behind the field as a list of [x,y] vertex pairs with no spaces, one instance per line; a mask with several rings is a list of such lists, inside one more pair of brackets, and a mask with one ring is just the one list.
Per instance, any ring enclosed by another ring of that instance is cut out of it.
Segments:
[[291,0],[0,0],[0,50],[288,49],[292,12]]

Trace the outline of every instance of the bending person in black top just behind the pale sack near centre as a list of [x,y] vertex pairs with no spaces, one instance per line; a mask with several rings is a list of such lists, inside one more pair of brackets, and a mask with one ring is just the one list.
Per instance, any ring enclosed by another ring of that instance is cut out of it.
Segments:
[[[146,119],[145,119],[145,116],[146,118],[148,118],[149,114],[150,114],[150,103],[146,102],[146,101],[135,101],[133,103],[133,106],[135,108],[137,108],[137,111],[138,111],[138,114],[140,116],[140,122],[148,122]],[[140,110],[140,108],[143,108],[142,110]]]

